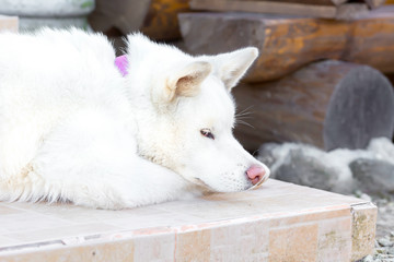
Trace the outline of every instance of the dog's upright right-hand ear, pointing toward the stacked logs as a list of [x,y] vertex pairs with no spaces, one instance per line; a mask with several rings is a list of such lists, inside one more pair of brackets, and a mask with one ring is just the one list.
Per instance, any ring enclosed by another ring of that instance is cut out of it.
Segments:
[[225,87],[231,91],[246,73],[257,56],[257,48],[246,47],[212,57],[216,74],[223,81]]

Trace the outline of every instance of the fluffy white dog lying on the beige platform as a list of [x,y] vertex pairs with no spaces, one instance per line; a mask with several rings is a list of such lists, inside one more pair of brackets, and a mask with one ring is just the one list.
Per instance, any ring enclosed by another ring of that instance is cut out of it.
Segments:
[[102,35],[0,35],[0,200],[123,209],[255,188],[231,88],[257,56],[192,57],[135,34],[127,75]]

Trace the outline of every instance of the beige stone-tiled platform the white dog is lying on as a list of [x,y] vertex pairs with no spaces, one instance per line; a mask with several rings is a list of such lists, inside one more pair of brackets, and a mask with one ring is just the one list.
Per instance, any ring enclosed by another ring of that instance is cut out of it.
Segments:
[[372,252],[369,202],[268,180],[135,210],[0,203],[0,262],[322,261]]

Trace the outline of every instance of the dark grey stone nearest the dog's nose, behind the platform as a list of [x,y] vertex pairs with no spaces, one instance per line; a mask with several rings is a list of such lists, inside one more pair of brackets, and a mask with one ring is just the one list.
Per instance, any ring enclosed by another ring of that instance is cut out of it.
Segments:
[[323,190],[333,190],[337,172],[320,159],[306,156],[302,150],[291,150],[283,164],[275,171],[275,178]]

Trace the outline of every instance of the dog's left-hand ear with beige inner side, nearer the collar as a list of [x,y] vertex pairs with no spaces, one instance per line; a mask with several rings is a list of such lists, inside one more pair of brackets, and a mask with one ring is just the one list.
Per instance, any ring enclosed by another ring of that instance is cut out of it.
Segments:
[[175,70],[166,81],[166,100],[177,96],[195,96],[200,90],[201,82],[209,75],[212,67],[209,62],[193,62]]

